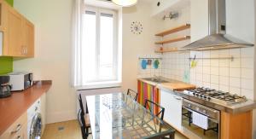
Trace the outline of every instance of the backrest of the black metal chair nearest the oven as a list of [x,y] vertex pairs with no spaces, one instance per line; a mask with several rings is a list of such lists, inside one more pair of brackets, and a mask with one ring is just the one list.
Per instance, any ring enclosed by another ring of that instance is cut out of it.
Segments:
[[154,113],[155,109],[160,110],[159,112],[154,113],[155,116],[160,117],[160,119],[164,119],[165,107],[161,107],[159,104],[154,101],[149,101],[146,99],[144,107],[148,109],[151,113]]

